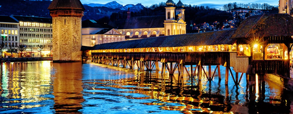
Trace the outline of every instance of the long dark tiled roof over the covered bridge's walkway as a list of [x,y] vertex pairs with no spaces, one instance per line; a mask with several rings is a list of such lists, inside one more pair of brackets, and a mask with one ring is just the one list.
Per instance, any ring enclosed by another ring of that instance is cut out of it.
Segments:
[[95,45],[91,48],[91,50],[233,44],[236,42],[236,39],[232,39],[231,36],[235,30],[236,29],[229,29],[222,31],[160,36],[130,41],[103,43]]

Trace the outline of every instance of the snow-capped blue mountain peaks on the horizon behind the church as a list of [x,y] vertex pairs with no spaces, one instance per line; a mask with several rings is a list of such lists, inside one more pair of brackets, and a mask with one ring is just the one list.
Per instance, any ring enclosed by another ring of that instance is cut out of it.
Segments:
[[127,10],[128,8],[130,8],[130,10],[132,11],[137,11],[137,10],[141,10],[142,8],[144,8],[144,6],[142,6],[141,3],[138,3],[136,5],[133,5],[133,4],[127,4],[125,6],[117,3],[116,1],[112,1],[112,2],[109,2],[109,3],[106,3],[106,4],[99,4],[99,3],[84,3],[83,5],[87,5],[87,6],[91,6],[91,7],[108,7],[108,8],[118,8],[118,9],[121,9],[121,10]]

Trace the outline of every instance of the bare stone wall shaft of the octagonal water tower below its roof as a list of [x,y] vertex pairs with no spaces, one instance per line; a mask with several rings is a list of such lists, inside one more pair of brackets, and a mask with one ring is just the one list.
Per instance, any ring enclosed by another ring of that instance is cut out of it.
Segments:
[[53,61],[81,61],[81,17],[53,17]]

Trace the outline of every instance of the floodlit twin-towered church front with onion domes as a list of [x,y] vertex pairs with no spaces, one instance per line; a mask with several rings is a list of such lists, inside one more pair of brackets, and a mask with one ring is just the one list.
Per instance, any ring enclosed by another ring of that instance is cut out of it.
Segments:
[[[184,4],[179,0],[175,5],[172,0],[166,2],[166,20],[164,21],[165,36],[185,34],[186,22],[184,22]],[[177,9],[175,10],[175,7]],[[176,12],[176,17],[175,17]],[[178,16],[177,16],[178,15]]]

